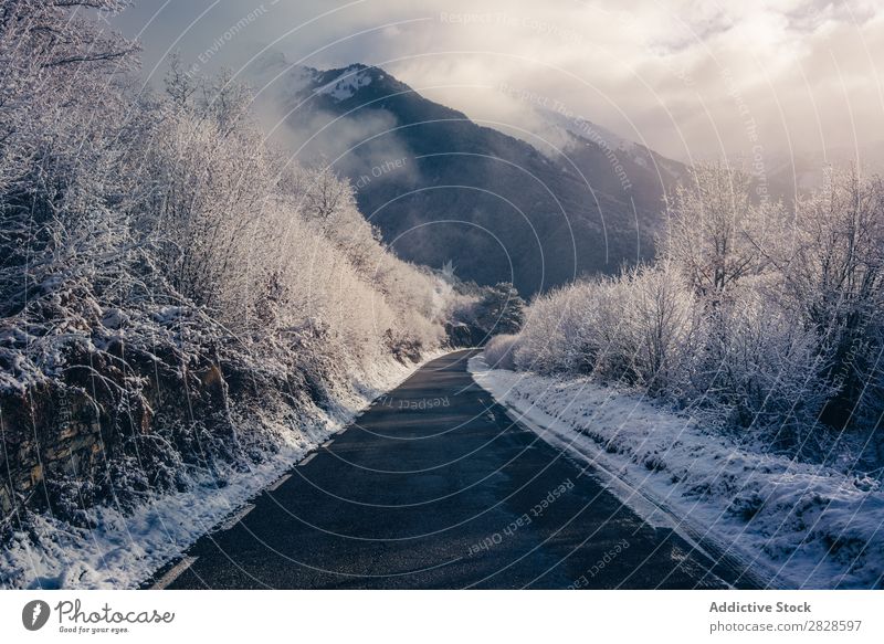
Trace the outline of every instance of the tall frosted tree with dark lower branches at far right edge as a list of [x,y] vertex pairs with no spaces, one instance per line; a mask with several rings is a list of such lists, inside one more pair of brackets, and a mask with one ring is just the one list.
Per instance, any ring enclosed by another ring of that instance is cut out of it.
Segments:
[[798,201],[793,243],[772,256],[783,300],[820,338],[838,394],[825,418],[874,423],[884,411],[884,183],[853,168],[828,170]]

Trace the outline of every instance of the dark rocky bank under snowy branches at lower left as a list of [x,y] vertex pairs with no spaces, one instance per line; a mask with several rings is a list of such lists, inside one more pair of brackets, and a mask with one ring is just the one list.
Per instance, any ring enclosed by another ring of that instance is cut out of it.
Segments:
[[218,448],[233,433],[220,362],[134,373],[84,357],[67,373],[0,395],[3,522],[49,509],[76,524],[98,500],[126,505],[131,494],[182,486],[181,464],[233,455],[232,445]]

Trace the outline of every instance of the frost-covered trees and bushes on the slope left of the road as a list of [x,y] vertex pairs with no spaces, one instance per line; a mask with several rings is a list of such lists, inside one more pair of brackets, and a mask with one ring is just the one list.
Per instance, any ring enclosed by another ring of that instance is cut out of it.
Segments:
[[90,18],[123,4],[0,14],[0,402],[85,400],[108,450],[53,500],[246,467],[440,348],[463,302],[387,251],[346,180],[269,147],[229,72],[173,56],[139,91],[136,47]]

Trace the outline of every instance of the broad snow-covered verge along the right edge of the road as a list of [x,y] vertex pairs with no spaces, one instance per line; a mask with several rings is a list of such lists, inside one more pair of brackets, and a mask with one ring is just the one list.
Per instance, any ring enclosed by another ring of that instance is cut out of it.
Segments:
[[[617,477],[613,492],[652,525],[690,527],[755,563],[771,585],[877,588],[884,573],[884,489],[760,454],[691,418],[589,379],[470,372],[517,420]],[[649,503],[650,500],[650,503]]]

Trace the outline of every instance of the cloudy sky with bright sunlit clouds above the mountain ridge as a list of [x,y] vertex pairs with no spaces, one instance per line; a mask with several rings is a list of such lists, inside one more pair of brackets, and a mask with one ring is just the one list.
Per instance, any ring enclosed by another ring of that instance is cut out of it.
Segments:
[[112,24],[155,80],[180,51],[383,67],[485,125],[537,107],[684,161],[884,157],[880,0],[136,0]]

